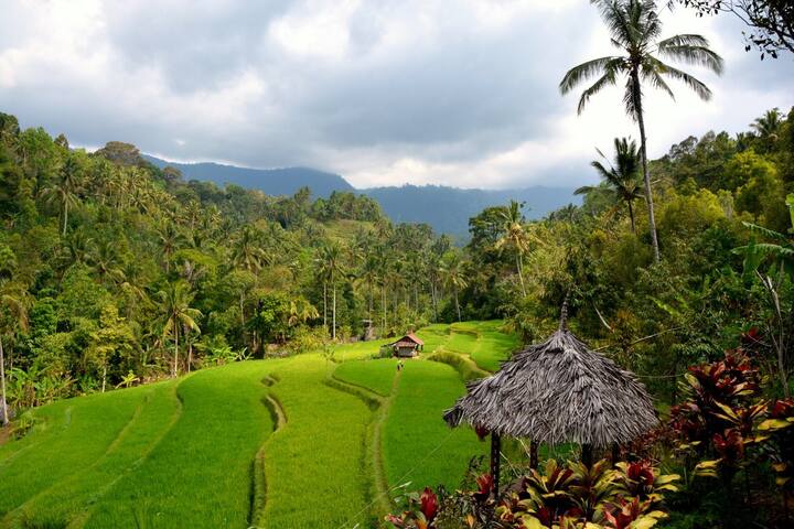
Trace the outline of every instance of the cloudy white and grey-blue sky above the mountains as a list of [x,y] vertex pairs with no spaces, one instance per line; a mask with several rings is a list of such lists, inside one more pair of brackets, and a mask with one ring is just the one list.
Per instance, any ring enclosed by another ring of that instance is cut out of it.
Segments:
[[[172,161],[311,166],[356,187],[592,183],[637,137],[619,88],[577,116],[559,80],[610,55],[587,0],[0,0],[0,111],[95,149]],[[728,17],[663,10],[726,60],[713,91],[648,91],[651,156],[794,105],[794,57],[745,53]]]

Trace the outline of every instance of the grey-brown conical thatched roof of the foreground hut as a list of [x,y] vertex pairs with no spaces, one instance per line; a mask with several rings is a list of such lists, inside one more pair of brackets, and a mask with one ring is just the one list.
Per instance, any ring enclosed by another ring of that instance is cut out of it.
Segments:
[[645,387],[577,338],[565,325],[565,309],[556,333],[495,375],[470,382],[444,420],[548,444],[594,446],[630,442],[658,423]]

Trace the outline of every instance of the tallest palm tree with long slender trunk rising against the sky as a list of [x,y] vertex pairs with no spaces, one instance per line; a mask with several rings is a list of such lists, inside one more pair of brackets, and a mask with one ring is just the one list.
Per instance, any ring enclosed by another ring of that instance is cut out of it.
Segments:
[[658,40],[662,21],[653,0],[591,0],[598,4],[601,18],[610,30],[611,42],[623,54],[594,58],[568,71],[559,88],[565,95],[588,79],[598,79],[588,87],[579,99],[578,114],[581,114],[590,98],[604,87],[615,85],[619,77],[625,78],[623,102],[626,112],[640,127],[640,152],[642,155],[645,201],[648,208],[648,224],[653,242],[654,258],[658,262],[658,238],[653,209],[653,193],[647,166],[647,147],[645,120],[642,100],[642,84],[666,91],[673,90],[665,78],[683,82],[701,99],[709,100],[711,90],[690,74],[683,72],[661,58],[673,58],[687,64],[705,66],[717,74],[722,73],[722,58],[712,52],[708,41],[701,35],[682,34]]

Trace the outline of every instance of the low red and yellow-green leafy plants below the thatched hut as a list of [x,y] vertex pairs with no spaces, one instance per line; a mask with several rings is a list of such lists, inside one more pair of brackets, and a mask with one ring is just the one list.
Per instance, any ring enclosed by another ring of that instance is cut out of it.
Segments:
[[[493,527],[512,529],[644,529],[666,515],[663,493],[676,490],[677,475],[659,475],[640,461],[592,466],[549,460],[543,472],[530,469],[501,495],[491,498],[493,479],[476,481],[478,490],[441,498],[425,489],[418,509],[386,520],[396,528],[446,529]],[[434,506],[428,508],[428,506]]]

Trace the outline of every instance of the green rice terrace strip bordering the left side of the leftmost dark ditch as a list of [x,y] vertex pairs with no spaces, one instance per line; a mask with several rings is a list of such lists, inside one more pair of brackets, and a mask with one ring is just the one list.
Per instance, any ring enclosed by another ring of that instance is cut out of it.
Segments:
[[183,379],[179,420],[85,527],[246,527],[254,458],[272,430],[262,377],[253,361]]

